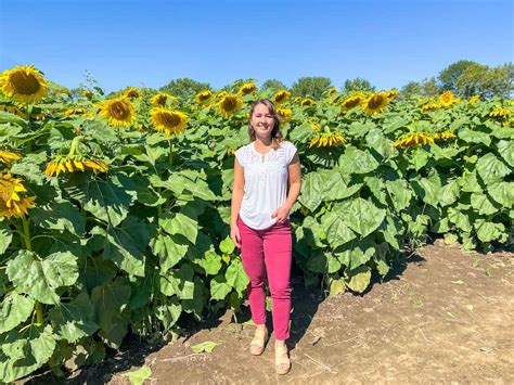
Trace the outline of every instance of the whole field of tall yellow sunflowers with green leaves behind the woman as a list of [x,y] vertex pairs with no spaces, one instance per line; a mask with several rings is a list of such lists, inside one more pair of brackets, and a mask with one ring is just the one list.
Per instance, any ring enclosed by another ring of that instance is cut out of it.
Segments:
[[513,244],[512,101],[337,89],[314,101],[254,82],[191,100],[132,87],[77,98],[18,66],[0,76],[0,382],[60,375],[128,333],[167,338],[242,305],[233,153],[258,98],[299,152],[291,219],[307,285],[362,293],[436,234]]

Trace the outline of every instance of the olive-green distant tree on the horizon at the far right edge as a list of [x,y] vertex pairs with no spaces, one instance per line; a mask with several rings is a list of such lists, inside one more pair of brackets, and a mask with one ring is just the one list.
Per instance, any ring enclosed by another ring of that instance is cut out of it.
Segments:
[[509,98],[514,91],[514,65],[512,63],[498,67],[470,65],[457,79],[458,94],[470,98],[478,94],[484,98]]

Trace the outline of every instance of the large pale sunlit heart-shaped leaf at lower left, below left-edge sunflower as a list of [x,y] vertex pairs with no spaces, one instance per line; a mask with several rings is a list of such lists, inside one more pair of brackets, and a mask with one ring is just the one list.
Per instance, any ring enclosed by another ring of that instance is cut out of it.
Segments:
[[77,281],[77,257],[72,253],[54,253],[41,260],[33,252],[20,251],[8,262],[7,272],[22,293],[43,304],[59,304],[55,290]]

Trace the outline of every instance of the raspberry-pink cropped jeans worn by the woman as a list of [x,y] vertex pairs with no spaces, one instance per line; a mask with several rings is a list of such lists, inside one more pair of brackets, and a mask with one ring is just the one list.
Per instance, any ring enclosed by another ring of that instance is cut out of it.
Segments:
[[275,339],[290,337],[291,313],[291,254],[292,236],[290,221],[275,223],[264,230],[248,228],[237,218],[241,235],[243,267],[249,278],[248,299],[252,320],[266,323],[265,279],[271,292],[273,334]]

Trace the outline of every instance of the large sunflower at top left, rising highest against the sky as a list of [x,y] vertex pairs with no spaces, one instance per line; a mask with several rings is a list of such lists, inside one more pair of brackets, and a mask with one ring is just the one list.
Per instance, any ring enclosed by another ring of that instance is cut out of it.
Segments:
[[0,90],[22,103],[39,102],[48,92],[48,81],[33,65],[5,69],[0,75]]

